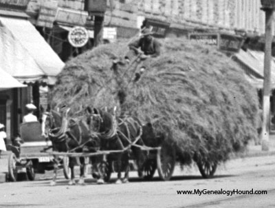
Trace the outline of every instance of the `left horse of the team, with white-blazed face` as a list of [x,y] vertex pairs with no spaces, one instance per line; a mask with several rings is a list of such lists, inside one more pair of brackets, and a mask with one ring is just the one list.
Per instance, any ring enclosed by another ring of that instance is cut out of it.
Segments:
[[[83,152],[89,151],[94,145],[89,136],[89,129],[85,122],[68,119],[67,114],[69,109],[63,109],[62,114],[51,110],[47,112],[46,119],[43,119],[43,126],[45,129],[49,128],[49,138],[52,141],[53,151],[56,152]],[[45,131],[44,131],[45,132]],[[45,133],[44,133],[45,134]],[[88,147],[88,148],[87,148]],[[58,156],[54,156],[54,177],[51,185],[56,185],[56,176],[58,169]],[[80,179],[78,184],[84,185],[84,175],[87,160],[80,157],[79,160],[69,157],[69,169],[71,169],[71,178],[69,185],[75,185],[74,166],[78,163],[80,165]]]

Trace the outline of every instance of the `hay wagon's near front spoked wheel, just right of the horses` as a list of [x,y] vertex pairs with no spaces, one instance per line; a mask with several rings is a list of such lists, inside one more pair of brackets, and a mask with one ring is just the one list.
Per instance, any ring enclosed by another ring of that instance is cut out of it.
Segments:
[[167,142],[157,151],[157,171],[162,180],[170,180],[176,163],[175,148]]

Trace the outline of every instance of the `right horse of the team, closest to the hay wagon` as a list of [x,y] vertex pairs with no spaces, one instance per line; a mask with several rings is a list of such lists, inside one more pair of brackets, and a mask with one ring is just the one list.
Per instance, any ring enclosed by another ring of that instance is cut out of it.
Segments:
[[[107,163],[111,167],[113,162],[116,162],[116,171],[118,179],[115,183],[129,182],[129,156],[130,151],[133,151],[133,156],[139,160],[141,150],[133,148],[132,145],[144,145],[140,139],[142,136],[142,125],[140,121],[132,117],[116,118],[115,110],[112,113],[106,110],[91,109],[87,107],[87,123],[89,129],[97,133],[100,138],[100,150],[112,151],[115,153],[107,155]],[[109,170],[110,171],[110,170]],[[124,171],[122,179],[121,172]],[[100,174],[100,178],[102,178]]]

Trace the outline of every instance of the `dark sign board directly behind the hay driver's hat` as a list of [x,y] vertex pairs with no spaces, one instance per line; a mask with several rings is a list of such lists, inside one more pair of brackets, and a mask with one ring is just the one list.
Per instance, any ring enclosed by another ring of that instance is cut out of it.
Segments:
[[155,19],[145,19],[145,26],[146,28],[150,28],[150,30],[154,33],[153,37],[164,38],[170,23]]

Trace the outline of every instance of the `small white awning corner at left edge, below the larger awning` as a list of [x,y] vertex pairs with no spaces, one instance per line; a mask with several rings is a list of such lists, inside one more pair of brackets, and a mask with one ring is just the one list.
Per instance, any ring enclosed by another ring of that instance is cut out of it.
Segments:
[[19,83],[19,81],[14,79],[8,72],[0,69],[0,91],[17,87],[27,87],[27,85]]

